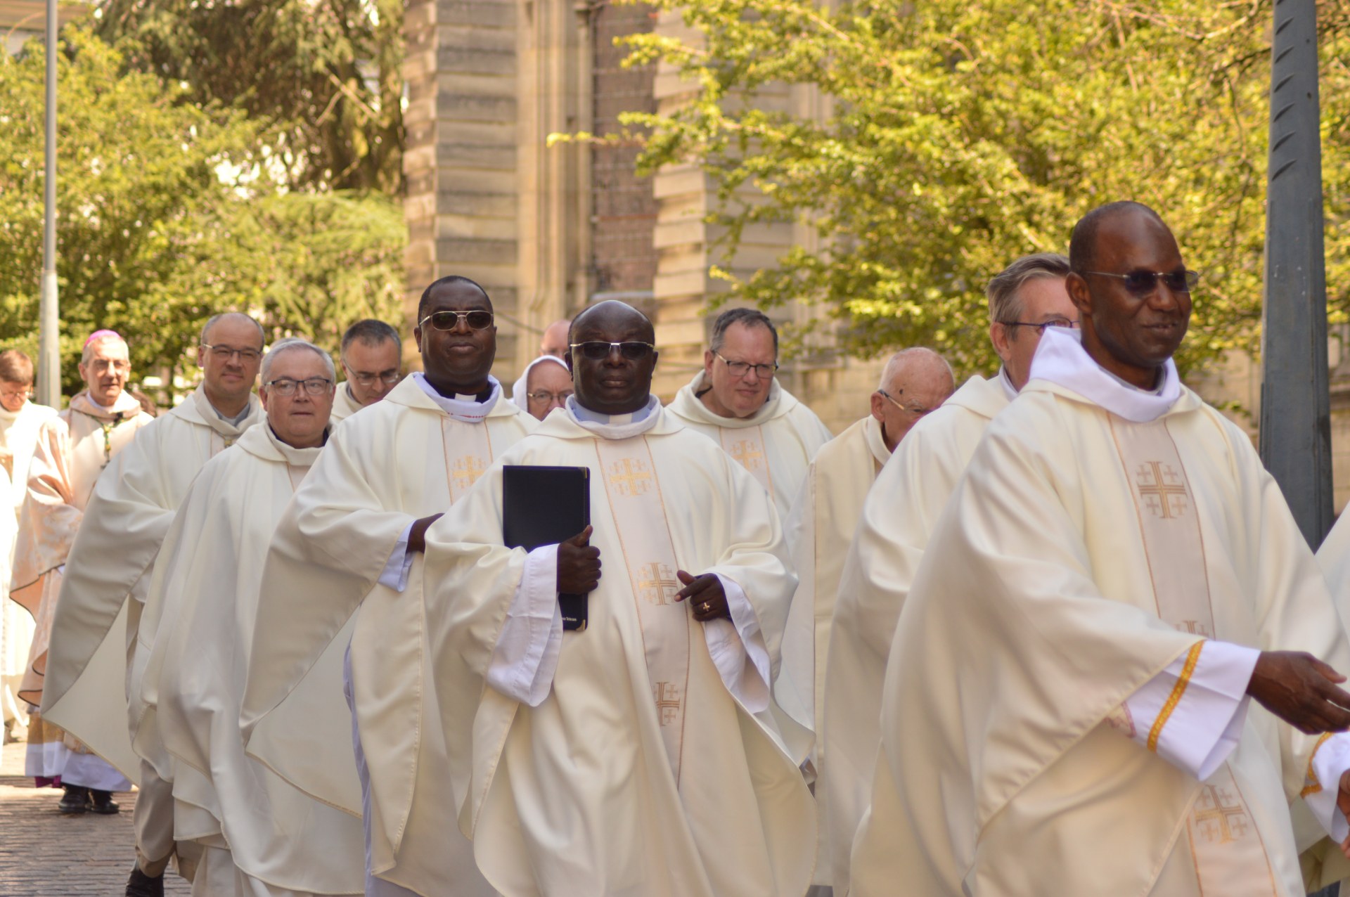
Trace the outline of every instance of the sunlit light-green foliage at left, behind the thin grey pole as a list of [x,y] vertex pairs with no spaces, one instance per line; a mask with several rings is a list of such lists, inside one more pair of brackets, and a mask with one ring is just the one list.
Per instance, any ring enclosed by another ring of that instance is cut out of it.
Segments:
[[[62,371],[97,328],[127,337],[139,374],[194,376],[190,347],[213,313],[246,310],[273,337],[336,349],[356,318],[398,320],[405,243],[379,194],[278,193],[239,183],[258,127],[201,108],[184,88],[127,71],[68,28],[59,61],[58,281]],[[42,46],[0,55],[0,347],[36,345],[42,271]]]

